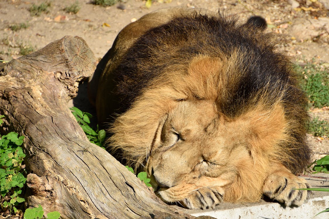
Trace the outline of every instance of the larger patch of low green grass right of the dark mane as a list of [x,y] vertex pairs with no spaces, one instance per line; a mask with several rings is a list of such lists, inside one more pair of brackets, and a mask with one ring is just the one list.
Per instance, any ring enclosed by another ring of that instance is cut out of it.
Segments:
[[302,89],[310,100],[312,107],[329,106],[329,70],[314,62],[309,62],[303,68],[296,66],[295,70],[300,75]]

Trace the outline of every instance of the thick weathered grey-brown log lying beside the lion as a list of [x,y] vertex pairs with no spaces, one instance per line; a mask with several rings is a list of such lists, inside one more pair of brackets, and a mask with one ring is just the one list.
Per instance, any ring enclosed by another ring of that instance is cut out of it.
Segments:
[[82,38],[65,36],[0,69],[0,113],[26,137],[27,207],[61,218],[193,218],[160,201],[75,121],[67,102],[95,63]]

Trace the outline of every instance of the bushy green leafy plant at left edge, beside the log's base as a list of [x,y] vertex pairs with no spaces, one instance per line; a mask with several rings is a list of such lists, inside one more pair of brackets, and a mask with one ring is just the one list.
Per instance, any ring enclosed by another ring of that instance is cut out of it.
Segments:
[[22,165],[25,154],[20,145],[24,136],[19,136],[15,132],[1,136],[0,139],[0,193],[1,208],[17,212],[15,206],[25,201],[20,197],[26,178]]

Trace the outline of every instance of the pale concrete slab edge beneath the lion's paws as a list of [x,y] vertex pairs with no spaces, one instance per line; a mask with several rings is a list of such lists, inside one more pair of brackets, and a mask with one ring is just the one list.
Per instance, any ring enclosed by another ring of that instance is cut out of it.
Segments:
[[[315,177],[302,177],[305,178],[313,188],[329,188],[329,174],[313,174]],[[313,197],[307,203],[300,207],[285,207],[278,202],[271,200],[261,200],[257,203],[223,203],[211,210],[186,210],[193,216],[211,216],[217,219],[323,219],[329,218],[329,212],[324,212],[315,216],[317,213],[329,208],[329,192],[313,191]]]

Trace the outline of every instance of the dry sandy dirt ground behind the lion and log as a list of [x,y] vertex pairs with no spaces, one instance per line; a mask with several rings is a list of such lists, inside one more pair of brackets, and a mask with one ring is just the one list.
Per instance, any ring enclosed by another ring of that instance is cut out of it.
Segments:
[[[21,48],[38,50],[64,35],[78,35],[86,40],[96,58],[100,59],[111,47],[117,33],[142,15],[164,7],[219,8],[240,16],[245,22],[251,15],[266,18],[266,31],[277,33],[279,49],[291,57],[291,61],[305,65],[307,61],[329,65],[329,0],[154,0],[145,7],[142,0],[122,0],[111,7],[93,5],[90,0],[78,0],[78,13],[63,9],[75,1],[52,0],[47,12],[32,16],[29,9],[38,0],[0,0],[0,59],[18,58]],[[11,30],[14,24],[26,23],[27,28]],[[75,105],[83,102],[86,94],[79,91]],[[329,95],[329,94],[328,94]],[[82,100],[81,100],[82,99]],[[80,105],[79,105],[80,106]],[[84,110],[84,106],[81,106]],[[310,112],[329,120],[329,111],[316,109]],[[328,138],[308,136],[314,151],[314,159],[329,154]]]

